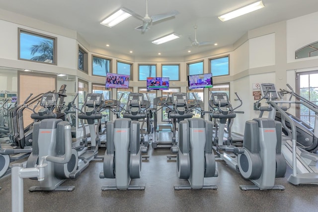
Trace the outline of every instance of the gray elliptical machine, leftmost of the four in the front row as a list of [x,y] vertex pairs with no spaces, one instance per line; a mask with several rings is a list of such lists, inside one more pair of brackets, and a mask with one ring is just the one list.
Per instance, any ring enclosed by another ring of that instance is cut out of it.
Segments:
[[[42,96],[40,105],[43,107],[37,113],[34,109],[31,115],[32,119],[41,120],[33,125],[32,153],[30,154],[26,168],[35,167],[39,164],[39,158],[49,156],[60,158],[63,163],[56,160],[44,160],[47,166],[44,168],[44,179],[39,181],[39,186],[29,188],[29,191],[73,191],[74,186],[60,186],[66,179],[70,178],[72,172],[76,171],[78,166],[78,152],[71,149],[71,156],[64,158],[66,154],[65,142],[72,141],[70,137],[65,140],[65,129],[69,122],[62,119],[56,119],[57,115],[52,113],[57,105],[58,93],[46,93]],[[70,130],[70,127],[68,127]],[[69,150],[68,150],[69,151]],[[59,160],[57,160],[59,161]],[[31,178],[37,180],[37,178]]]

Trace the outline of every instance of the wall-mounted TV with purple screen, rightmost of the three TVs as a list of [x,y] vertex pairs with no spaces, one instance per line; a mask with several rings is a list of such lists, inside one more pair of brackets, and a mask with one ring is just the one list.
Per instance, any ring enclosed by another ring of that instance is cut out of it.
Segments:
[[188,75],[188,86],[189,90],[213,87],[212,73]]

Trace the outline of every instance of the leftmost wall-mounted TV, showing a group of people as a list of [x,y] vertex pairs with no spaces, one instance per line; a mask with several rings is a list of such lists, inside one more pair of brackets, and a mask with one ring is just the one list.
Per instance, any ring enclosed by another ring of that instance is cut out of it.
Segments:
[[106,74],[106,88],[129,88],[129,75],[118,73]]

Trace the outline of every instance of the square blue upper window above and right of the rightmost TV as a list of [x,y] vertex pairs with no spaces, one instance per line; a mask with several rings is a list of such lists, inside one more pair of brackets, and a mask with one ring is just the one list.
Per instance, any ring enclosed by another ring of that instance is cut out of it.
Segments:
[[209,59],[209,70],[212,76],[223,76],[230,74],[229,55],[220,58]]

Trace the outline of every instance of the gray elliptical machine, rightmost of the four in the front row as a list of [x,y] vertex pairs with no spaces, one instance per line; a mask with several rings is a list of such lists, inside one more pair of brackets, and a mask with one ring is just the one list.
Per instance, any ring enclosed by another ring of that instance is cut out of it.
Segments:
[[[239,98],[237,93],[236,95]],[[219,110],[213,113],[213,117],[222,119],[235,117],[233,111],[222,114],[221,106],[227,104],[229,104],[227,93],[214,95],[214,105],[219,107]],[[218,149],[224,150],[223,153],[219,152],[220,157],[238,170],[243,178],[254,183],[254,185],[240,185],[241,190],[285,189],[282,185],[275,185],[275,178],[284,177],[286,172],[285,158],[281,154],[281,135],[281,123],[269,118],[254,118],[245,122],[242,147],[219,145],[223,143],[222,140],[220,142],[219,137]],[[236,157],[229,155],[228,152],[234,153]]]

